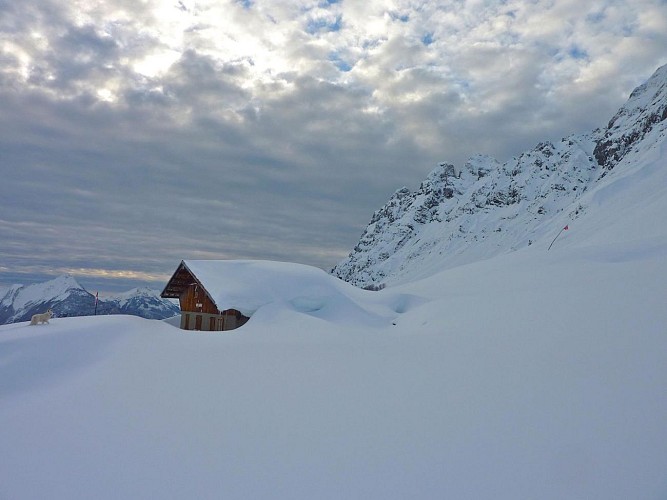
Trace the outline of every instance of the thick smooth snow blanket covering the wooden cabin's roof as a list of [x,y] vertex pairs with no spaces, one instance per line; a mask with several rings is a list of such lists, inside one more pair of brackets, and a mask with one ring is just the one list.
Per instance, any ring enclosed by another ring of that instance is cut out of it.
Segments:
[[184,260],[220,310],[246,316],[279,301],[317,300],[352,288],[322,269],[265,260]]

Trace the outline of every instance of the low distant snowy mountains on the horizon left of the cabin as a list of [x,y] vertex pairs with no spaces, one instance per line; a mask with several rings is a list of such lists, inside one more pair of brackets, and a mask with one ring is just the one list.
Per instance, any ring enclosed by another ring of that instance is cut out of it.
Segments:
[[[92,316],[95,296],[69,275],[34,285],[0,287],[0,324],[29,321],[33,314],[53,309],[55,317]],[[160,292],[135,288],[100,298],[97,314],[130,314],[147,319],[170,318],[180,313],[177,304],[162,299]]]

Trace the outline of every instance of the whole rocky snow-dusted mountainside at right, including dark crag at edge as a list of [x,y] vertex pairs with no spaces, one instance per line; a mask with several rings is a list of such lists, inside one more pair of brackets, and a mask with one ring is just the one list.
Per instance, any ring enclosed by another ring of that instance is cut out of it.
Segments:
[[667,65],[606,125],[542,142],[506,163],[484,155],[438,165],[419,189],[399,189],[331,271],[377,289],[535,243],[585,217],[590,193],[660,154],[667,137]]

